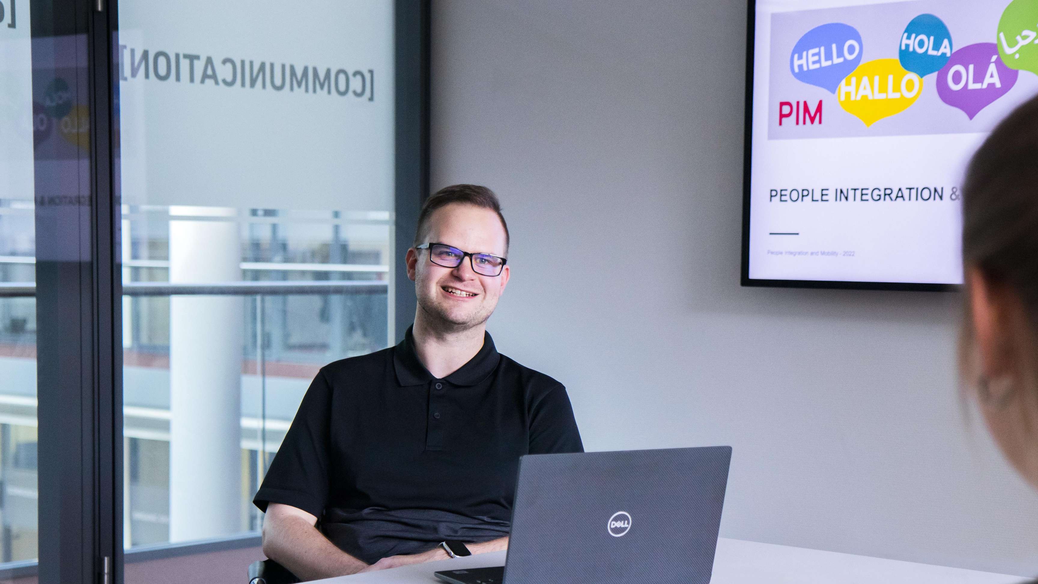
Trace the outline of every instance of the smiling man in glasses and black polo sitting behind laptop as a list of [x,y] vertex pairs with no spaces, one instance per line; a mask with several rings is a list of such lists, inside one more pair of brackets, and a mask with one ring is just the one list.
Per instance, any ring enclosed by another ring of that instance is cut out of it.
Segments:
[[490,189],[426,201],[406,257],[414,324],[313,379],[254,500],[269,558],[316,580],[504,550],[519,457],[582,452],[562,383],[486,331],[508,250]]

